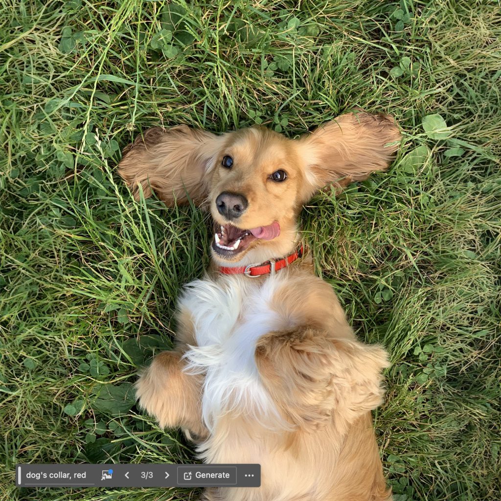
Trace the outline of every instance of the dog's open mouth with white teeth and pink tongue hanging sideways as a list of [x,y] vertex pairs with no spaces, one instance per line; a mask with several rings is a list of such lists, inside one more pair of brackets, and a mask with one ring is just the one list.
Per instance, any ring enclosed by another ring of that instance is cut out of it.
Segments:
[[225,258],[237,256],[255,240],[272,240],[280,235],[280,224],[277,221],[268,226],[250,229],[237,228],[232,224],[215,223],[214,229],[212,248],[218,256]]

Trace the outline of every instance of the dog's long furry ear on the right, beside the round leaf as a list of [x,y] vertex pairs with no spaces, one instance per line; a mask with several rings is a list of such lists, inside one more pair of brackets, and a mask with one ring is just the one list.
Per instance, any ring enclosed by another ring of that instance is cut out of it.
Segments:
[[400,131],[388,115],[340,115],[299,139],[305,165],[303,201],[328,185],[346,186],[384,170],[398,149]]

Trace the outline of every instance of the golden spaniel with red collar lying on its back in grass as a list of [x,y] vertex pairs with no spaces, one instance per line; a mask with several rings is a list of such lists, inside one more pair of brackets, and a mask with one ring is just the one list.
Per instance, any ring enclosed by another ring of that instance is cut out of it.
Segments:
[[391,117],[359,111],[298,139],[179,125],[124,150],[119,174],[136,199],[192,201],[214,221],[211,265],[179,300],[176,347],[136,384],[140,407],[182,428],[205,462],[261,464],[261,487],[204,499],[390,498],[371,417],[387,353],[355,338],[298,217],[317,191],[386,169],[399,141]]

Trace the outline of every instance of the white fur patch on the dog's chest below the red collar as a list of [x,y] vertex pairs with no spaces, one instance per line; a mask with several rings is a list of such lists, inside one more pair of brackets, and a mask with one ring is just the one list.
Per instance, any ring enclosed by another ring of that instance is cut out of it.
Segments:
[[273,297],[284,285],[278,277],[257,284],[231,276],[195,280],[186,287],[180,308],[190,312],[197,342],[185,354],[186,370],[205,375],[202,417],[209,430],[228,412],[266,420],[268,426],[280,422],[261,382],[255,349],[264,334],[291,326],[273,308]]

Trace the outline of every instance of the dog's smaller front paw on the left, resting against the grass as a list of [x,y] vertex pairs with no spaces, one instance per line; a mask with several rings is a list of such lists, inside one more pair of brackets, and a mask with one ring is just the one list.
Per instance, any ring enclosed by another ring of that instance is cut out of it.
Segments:
[[206,435],[201,419],[201,376],[187,374],[182,354],[157,355],[136,383],[139,405],[164,428],[182,427],[198,437]]

